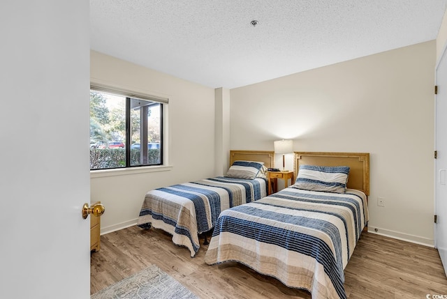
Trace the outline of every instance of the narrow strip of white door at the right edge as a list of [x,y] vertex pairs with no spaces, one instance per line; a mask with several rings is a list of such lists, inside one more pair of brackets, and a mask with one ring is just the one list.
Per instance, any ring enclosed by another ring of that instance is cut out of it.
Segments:
[[436,247],[447,273],[447,57],[444,52],[436,71],[438,94],[436,96],[435,140],[436,164]]

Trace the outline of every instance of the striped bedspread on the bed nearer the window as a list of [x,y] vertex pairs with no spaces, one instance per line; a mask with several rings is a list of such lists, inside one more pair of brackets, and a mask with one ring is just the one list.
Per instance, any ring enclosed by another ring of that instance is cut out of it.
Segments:
[[265,178],[218,176],[161,187],[145,195],[137,224],[167,231],[175,244],[186,246],[194,256],[200,247],[198,233],[212,229],[221,211],[261,199],[266,193]]

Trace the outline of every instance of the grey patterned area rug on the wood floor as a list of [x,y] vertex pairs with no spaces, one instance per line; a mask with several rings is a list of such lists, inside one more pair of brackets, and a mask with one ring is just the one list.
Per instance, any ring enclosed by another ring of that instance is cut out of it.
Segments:
[[159,267],[151,265],[120,282],[112,284],[91,299],[198,299],[189,289],[164,273]]

